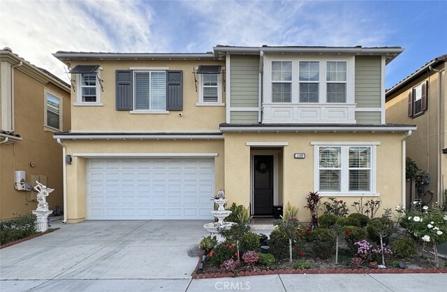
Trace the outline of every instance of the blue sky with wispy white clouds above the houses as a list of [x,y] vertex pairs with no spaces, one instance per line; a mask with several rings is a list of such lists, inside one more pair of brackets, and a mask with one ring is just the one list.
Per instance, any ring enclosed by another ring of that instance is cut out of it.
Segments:
[[400,46],[390,88],[447,54],[447,1],[0,1],[0,47],[67,79],[51,54],[215,45]]

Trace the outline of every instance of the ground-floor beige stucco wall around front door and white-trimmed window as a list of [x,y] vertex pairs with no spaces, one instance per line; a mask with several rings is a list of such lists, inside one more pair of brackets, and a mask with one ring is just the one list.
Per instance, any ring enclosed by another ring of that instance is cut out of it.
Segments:
[[[402,203],[402,138],[396,134],[328,134],[328,133],[226,133],[225,134],[225,189],[229,203],[249,206],[250,203],[250,146],[247,142],[288,142],[282,155],[282,185],[279,198],[290,201],[299,208],[298,220],[308,222],[309,211],[304,208],[305,197],[314,191],[314,146],[311,141],[374,141],[376,146],[376,187],[383,201],[383,208],[393,208]],[[305,153],[304,160],[294,158],[294,153]],[[281,165],[281,164],[280,164]],[[353,201],[360,197],[337,197],[348,202],[350,211]],[[371,197],[365,197],[371,199]],[[324,201],[324,199],[323,199]],[[382,212],[382,210],[381,210]]]

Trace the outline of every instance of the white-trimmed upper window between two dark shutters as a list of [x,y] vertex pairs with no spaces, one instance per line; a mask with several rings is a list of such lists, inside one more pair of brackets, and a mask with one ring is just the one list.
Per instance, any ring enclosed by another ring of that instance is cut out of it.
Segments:
[[133,109],[166,111],[166,71],[133,71]]

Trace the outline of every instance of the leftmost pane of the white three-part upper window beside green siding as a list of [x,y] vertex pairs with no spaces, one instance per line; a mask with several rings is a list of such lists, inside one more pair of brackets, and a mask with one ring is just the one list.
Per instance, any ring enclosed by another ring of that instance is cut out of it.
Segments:
[[292,62],[272,61],[272,102],[291,102]]

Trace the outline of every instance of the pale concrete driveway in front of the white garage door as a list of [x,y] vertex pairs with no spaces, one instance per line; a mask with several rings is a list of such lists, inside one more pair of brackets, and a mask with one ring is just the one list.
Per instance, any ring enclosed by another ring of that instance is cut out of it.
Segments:
[[[176,279],[177,285],[182,282],[179,279],[184,279],[186,288],[198,262],[200,238],[208,235],[203,229],[205,223],[201,220],[86,221],[68,225],[55,222],[52,227],[60,226],[59,231],[0,250],[0,289],[57,291],[59,281],[65,282],[66,287],[66,281],[73,280],[70,290],[82,291],[89,284],[85,280],[89,279]],[[17,279],[21,281],[8,281]],[[169,282],[163,281],[168,289],[166,284]]]

